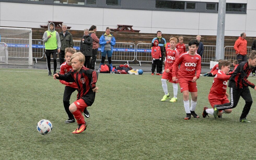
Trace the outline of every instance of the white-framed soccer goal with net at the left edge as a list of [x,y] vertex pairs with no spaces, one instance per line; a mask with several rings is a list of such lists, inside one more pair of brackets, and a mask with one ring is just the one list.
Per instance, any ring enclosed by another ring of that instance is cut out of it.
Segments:
[[0,64],[33,65],[32,29],[0,27]]

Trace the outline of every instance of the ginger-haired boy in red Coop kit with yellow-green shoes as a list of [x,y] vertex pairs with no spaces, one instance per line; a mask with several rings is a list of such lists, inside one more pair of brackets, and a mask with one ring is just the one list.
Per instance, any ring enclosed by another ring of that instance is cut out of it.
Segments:
[[[176,58],[179,57],[179,51],[175,47],[177,43],[177,38],[173,37],[170,39],[170,48],[166,49],[166,64],[165,64],[165,72],[162,75],[162,87],[164,90],[164,97],[161,99],[161,101],[165,101],[166,99],[170,98],[168,90],[167,90],[167,83],[166,80],[169,80],[169,82],[172,83],[173,86],[173,98],[171,98],[170,102],[177,102],[177,93],[178,93],[178,81],[172,81],[172,65]],[[178,77],[176,75],[176,77]]]

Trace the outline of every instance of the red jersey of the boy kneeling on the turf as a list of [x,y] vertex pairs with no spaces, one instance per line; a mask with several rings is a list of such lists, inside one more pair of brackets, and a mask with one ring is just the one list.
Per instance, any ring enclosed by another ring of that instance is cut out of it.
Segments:
[[209,96],[223,98],[227,90],[227,84],[230,76],[231,75],[226,75],[225,72],[218,70],[213,79]]

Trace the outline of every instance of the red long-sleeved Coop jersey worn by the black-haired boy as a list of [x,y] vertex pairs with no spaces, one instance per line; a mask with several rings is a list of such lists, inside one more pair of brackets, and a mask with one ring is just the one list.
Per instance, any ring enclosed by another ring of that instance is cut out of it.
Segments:
[[178,71],[179,78],[191,81],[196,76],[199,79],[201,73],[201,56],[199,54],[191,56],[188,51],[180,55],[172,66],[172,77],[175,77],[179,64],[181,64]]

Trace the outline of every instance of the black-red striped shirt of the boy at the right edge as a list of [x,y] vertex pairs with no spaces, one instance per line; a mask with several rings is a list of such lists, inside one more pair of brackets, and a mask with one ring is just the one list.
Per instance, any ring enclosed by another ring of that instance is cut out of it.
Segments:
[[254,67],[249,67],[248,61],[241,62],[229,79],[229,87],[243,88],[246,86],[254,88],[255,85],[247,80]]

